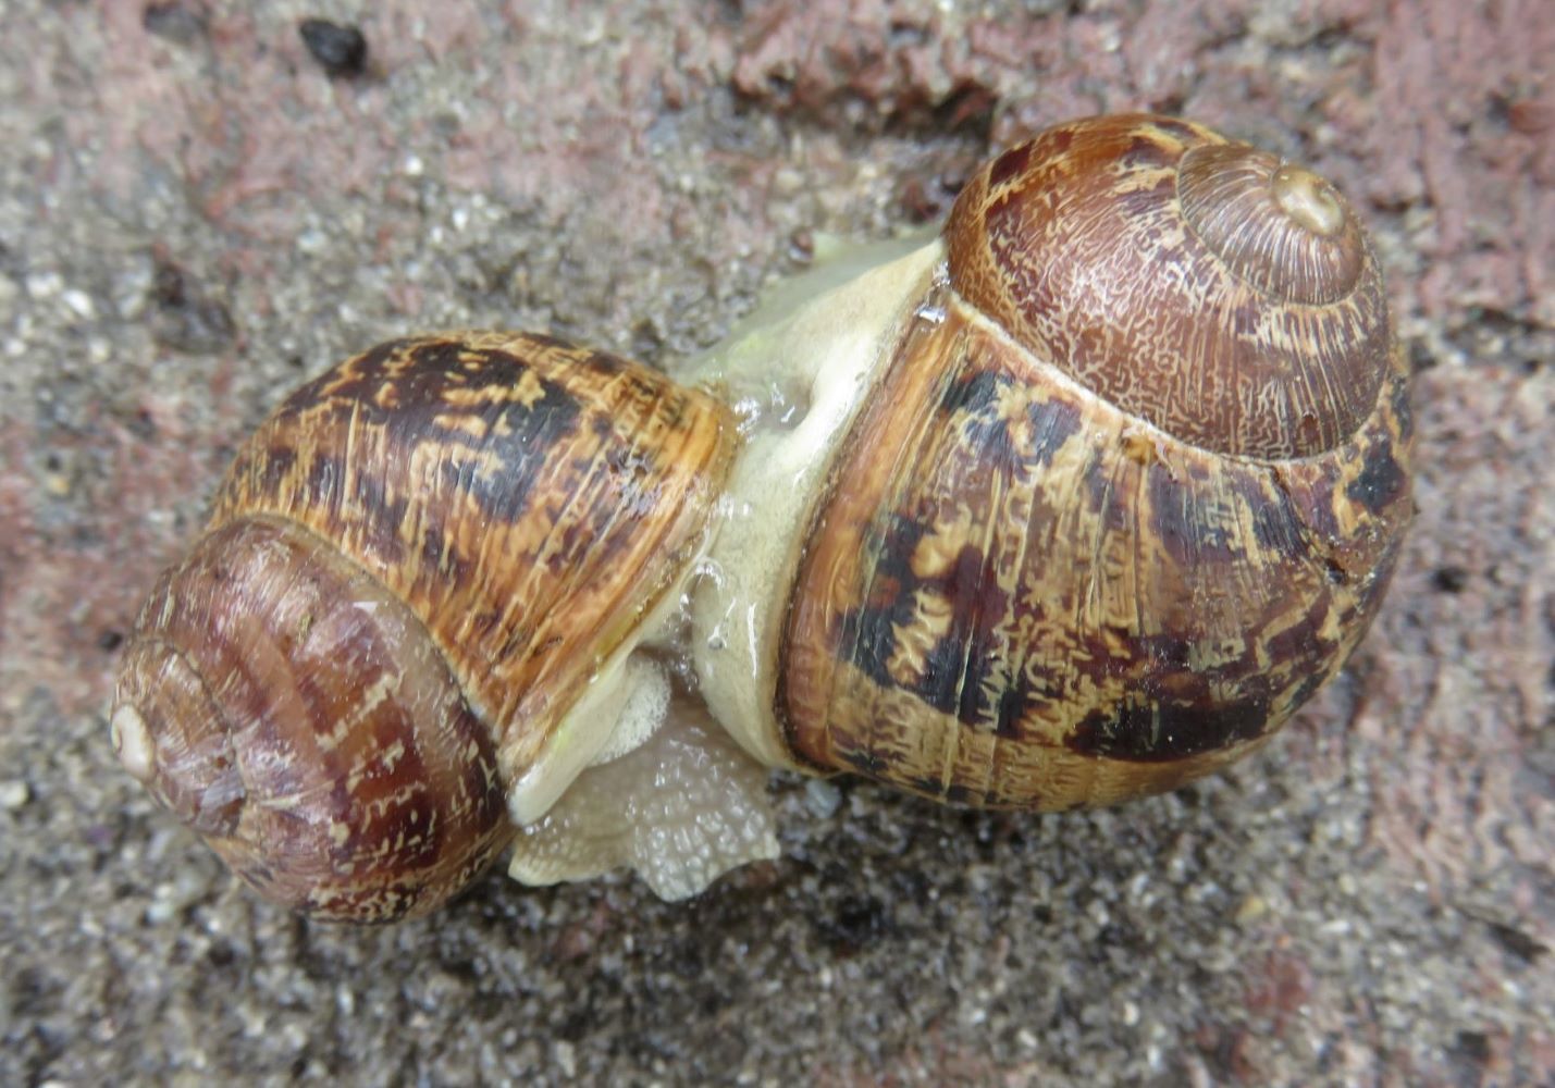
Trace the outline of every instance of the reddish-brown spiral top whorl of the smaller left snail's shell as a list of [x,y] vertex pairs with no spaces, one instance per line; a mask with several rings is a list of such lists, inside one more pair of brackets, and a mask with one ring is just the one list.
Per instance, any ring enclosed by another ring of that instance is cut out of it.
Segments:
[[205,536],[126,647],[124,766],[267,898],[429,911],[512,839],[491,732],[403,602],[271,518]]

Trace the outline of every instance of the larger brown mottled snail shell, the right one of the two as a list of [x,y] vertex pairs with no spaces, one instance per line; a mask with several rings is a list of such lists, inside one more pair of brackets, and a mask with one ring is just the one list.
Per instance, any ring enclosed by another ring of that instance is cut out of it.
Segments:
[[1070,808],[1263,745],[1412,513],[1381,274],[1326,182],[1194,124],[989,163],[816,507],[776,692],[813,766]]

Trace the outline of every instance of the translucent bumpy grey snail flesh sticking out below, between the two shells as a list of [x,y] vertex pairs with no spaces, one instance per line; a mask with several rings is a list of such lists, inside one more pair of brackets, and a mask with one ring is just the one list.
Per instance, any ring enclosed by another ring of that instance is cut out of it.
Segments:
[[508,875],[555,884],[628,867],[659,898],[687,898],[729,869],[778,856],[767,777],[706,710],[678,695],[653,737],[583,771],[519,830]]

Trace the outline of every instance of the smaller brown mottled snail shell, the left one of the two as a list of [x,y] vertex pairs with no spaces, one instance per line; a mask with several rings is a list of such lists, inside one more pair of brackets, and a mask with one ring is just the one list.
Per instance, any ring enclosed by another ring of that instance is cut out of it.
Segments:
[[146,603],[126,766],[266,897],[425,912],[516,828],[505,783],[666,594],[732,417],[530,334],[397,340],[292,393]]

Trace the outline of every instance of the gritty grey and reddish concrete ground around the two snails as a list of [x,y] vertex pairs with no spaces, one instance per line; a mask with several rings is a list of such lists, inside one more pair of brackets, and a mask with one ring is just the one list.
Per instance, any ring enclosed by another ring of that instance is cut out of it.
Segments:
[[[0,1082],[1555,1080],[1539,6],[0,0]],[[1261,758],[1061,818],[782,779],[782,861],[690,903],[491,875],[370,931],[255,901],[118,769],[138,598],[303,375],[471,325],[658,362],[1130,107],[1351,193],[1418,373],[1386,611]]]

